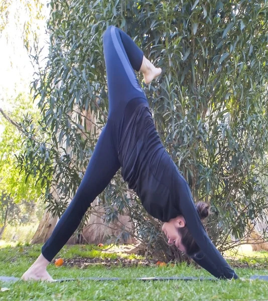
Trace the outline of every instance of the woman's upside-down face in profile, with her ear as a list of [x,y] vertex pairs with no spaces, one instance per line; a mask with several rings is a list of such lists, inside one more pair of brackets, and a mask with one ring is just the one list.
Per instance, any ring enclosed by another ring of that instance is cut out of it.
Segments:
[[185,220],[183,216],[177,216],[166,222],[162,226],[162,231],[168,238],[169,244],[174,244],[179,250],[186,253],[186,249],[182,244],[182,237],[178,232],[179,228],[185,227]]

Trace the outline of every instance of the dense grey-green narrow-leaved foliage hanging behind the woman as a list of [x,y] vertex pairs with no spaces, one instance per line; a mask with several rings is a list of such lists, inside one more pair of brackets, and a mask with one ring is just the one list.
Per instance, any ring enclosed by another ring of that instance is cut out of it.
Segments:
[[[249,222],[266,218],[267,2],[52,0],[50,6],[50,53],[33,82],[49,139],[37,141],[27,127],[21,166],[31,162],[27,172],[42,178],[54,214],[61,215],[75,194],[97,128],[106,121],[102,34],[115,25],[163,69],[157,82],[143,88],[160,137],[195,201],[211,204],[214,242],[226,249],[230,234],[241,238]],[[38,64],[39,53],[33,59]],[[95,118],[93,132],[81,116],[88,111]],[[49,193],[53,185],[60,200]],[[168,258],[177,256],[159,234],[160,223],[127,194],[119,174],[102,200],[107,222],[125,208],[139,239]]]

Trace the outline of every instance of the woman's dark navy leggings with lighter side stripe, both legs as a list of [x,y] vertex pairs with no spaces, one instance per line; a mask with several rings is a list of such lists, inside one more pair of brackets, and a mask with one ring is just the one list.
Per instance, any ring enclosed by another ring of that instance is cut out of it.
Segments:
[[66,244],[90,204],[120,168],[118,143],[128,117],[137,105],[147,105],[146,95],[133,70],[139,71],[141,68],[144,56],[142,50],[127,34],[114,26],[105,31],[103,48],[108,84],[108,120],[73,200],[42,247],[42,254],[49,261]]

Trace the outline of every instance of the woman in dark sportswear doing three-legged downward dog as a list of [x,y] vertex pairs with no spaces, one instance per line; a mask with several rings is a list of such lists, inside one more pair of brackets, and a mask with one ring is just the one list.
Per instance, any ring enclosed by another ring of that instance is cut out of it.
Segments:
[[103,35],[109,113],[84,178],[70,205],[57,223],[42,252],[22,279],[52,280],[46,270],[79,226],[93,200],[117,170],[144,208],[164,222],[162,230],[199,265],[218,278],[237,278],[209,239],[201,218],[208,205],[195,206],[189,186],[166,152],[135,71],[149,84],[161,73],[142,50],[120,29],[110,26]]

